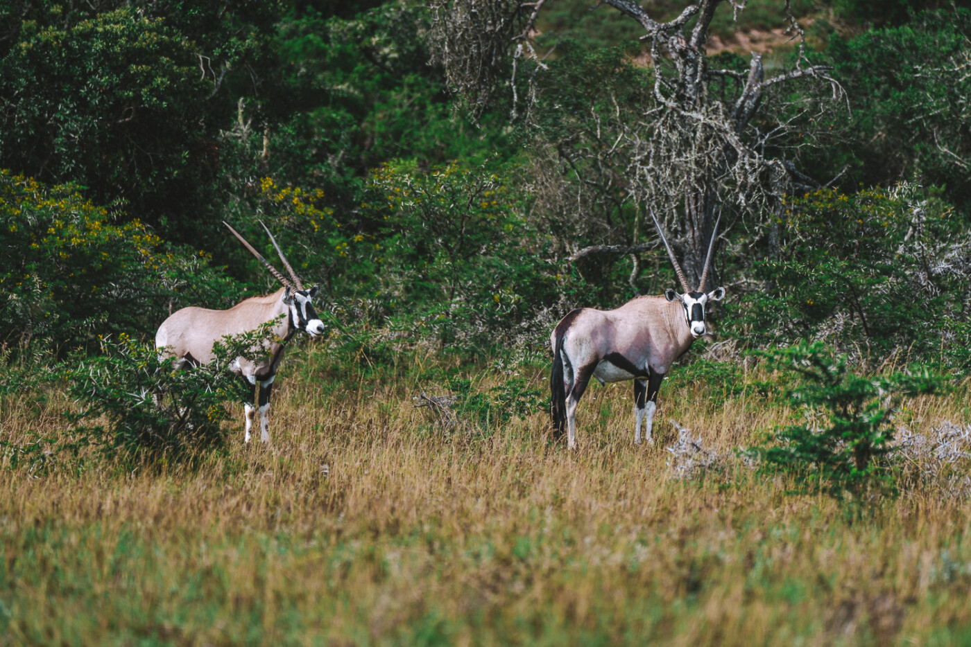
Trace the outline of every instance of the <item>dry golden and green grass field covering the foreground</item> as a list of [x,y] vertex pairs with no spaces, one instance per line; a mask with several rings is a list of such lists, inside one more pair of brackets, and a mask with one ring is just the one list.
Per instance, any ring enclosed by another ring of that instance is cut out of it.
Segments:
[[[684,368],[653,447],[627,384],[588,390],[576,452],[539,410],[443,430],[415,406],[444,393],[427,375],[508,379],[455,366],[348,372],[321,344],[285,364],[270,446],[239,429],[191,468],[3,466],[0,645],[971,644],[971,507],[920,462],[862,512],[787,494],[734,454],[787,404]],[[901,424],[963,424],[966,396]],[[4,397],[0,436],[66,434],[65,406]],[[671,421],[714,469],[682,477]]]

